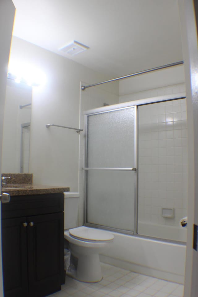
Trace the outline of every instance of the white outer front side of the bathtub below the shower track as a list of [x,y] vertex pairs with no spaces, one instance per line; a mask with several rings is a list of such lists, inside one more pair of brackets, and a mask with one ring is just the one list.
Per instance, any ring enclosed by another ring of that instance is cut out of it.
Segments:
[[114,234],[113,246],[101,262],[137,273],[184,283],[186,246],[141,237]]

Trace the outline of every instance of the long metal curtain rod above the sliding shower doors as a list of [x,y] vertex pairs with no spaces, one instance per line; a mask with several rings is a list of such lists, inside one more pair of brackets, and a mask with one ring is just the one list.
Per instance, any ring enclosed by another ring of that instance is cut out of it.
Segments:
[[98,86],[99,84],[106,84],[106,83],[110,83],[111,81],[122,80],[124,78],[128,78],[128,77],[131,77],[131,76],[136,76],[136,75],[139,75],[139,74],[144,74],[144,73],[147,73],[147,72],[151,72],[151,71],[155,71],[155,70],[160,70],[160,69],[163,69],[163,68],[168,68],[168,67],[177,66],[177,65],[181,65],[181,64],[183,64],[183,61],[179,61],[179,62],[175,62],[175,63],[171,63],[171,64],[167,64],[167,65],[163,65],[163,66],[159,66],[159,67],[155,67],[155,68],[143,70],[143,71],[132,73],[132,74],[128,74],[128,75],[125,75],[125,76],[120,76],[120,77],[117,77],[117,78],[113,78],[112,80],[101,81],[100,83],[96,83],[96,84],[89,84],[87,86],[81,86],[81,90],[84,91],[86,88]]

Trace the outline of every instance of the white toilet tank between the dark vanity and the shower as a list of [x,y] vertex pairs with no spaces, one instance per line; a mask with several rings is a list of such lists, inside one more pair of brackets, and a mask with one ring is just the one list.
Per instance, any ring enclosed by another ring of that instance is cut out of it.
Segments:
[[64,229],[71,229],[71,228],[78,227],[79,193],[64,192],[64,194],[65,194]]

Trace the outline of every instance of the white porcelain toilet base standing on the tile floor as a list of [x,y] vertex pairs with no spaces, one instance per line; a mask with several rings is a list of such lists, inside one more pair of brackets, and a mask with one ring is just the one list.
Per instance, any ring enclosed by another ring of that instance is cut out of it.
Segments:
[[99,255],[78,256],[77,268],[74,266],[69,267],[66,275],[80,282],[100,282],[102,280],[102,272]]

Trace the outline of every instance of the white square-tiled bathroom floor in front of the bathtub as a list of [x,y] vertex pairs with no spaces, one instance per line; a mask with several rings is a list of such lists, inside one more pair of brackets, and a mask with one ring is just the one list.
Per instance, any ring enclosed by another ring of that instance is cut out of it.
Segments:
[[50,297],[183,297],[183,285],[101,263],[103,279],[83,283],[66,277],[62,290]]

